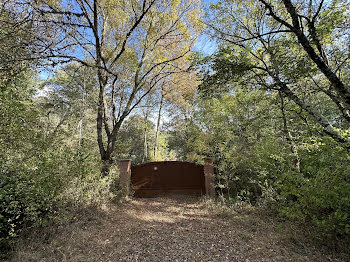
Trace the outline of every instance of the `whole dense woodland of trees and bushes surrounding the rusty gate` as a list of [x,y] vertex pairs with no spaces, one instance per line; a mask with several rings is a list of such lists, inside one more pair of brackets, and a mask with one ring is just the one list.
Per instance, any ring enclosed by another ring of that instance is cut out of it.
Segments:
[[2,256],[120,198],[125,158],[212,157],[221,201],[348,245],[349,4],[1,1]]

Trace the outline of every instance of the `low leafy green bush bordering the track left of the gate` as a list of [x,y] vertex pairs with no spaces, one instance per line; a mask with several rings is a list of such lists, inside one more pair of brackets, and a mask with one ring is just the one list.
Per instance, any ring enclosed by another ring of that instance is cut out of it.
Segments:
[[116,195],[118,173],[114,170],[102,179],[93,155],[82,157],[64,147],[42,152],[40,160],[29,162],[8,162],[0,171],[2,251],[9,250],[24,227],[70,219],[76,208],[99,205]]

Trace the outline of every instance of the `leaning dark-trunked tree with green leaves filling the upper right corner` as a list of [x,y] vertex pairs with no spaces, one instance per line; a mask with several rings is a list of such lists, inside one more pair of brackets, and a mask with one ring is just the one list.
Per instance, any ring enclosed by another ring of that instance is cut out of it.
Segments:
[[[220,1],[212,11],[208,24],[222,46],[207,80],[223,84],[241,77],[242,83],[279,91],[350,150],[349,138],[339,130],[350,123],[345,6],[339,1]],[[329,104],[338,113],[324,114],[322,107]]]

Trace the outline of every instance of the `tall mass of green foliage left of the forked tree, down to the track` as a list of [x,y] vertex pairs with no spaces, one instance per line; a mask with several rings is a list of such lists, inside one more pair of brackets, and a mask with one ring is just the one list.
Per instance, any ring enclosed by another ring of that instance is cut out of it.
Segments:
[[[38,97],[36,82],[32,72],[22,72],[0,93],[2,256],[22,228],[59,221],[65,210],[110,200],[117,190],[117,172],[100,178],[94,132],[88,130],[94,117],[87,104],[66,106],[79,97],[72,88],[65,95],[54,89]],[[81,119],[83,130],[76,136]]]

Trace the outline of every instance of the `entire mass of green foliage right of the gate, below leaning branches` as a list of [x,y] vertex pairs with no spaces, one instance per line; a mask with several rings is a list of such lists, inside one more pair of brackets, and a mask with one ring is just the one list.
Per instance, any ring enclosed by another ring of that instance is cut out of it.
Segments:
[[326,239],[348,239],[347,151],[319,136],[317,126],[305,126],[295,106],[287,103],[291,144],[276,94],[248,86],[231,90],[214,98],[198,97],[191,119],[178,122],[173,131],[173,148],[181,145],[177,153],[191,161],[213,157],[216,191],[222,197],[274,208]]

